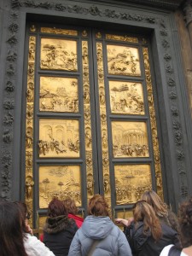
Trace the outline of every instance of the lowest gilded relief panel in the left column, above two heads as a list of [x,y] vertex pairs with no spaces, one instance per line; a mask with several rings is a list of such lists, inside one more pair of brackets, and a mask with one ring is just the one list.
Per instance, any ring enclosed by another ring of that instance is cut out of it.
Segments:
[[73,198],[81,206],[80,166],[39,167],[39,207],[47,208],[53,197]]

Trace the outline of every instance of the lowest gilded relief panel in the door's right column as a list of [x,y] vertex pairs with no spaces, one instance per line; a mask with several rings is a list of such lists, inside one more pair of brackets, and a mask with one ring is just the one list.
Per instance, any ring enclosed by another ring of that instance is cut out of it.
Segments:
[[152,189],[149,165],[114,166],[116,204],[134,203]]

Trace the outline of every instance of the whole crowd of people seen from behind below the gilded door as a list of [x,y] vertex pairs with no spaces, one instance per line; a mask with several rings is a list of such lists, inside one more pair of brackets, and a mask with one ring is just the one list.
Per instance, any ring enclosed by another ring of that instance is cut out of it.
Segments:
[[132,218],[113,223],[105,198],[94,195],[87,213],[80,218],[71,198],[53,198],[38,239],[26,204],[0,201],[0,256],[192,256],[192,197],[176,216],[153,190],[146,191]]

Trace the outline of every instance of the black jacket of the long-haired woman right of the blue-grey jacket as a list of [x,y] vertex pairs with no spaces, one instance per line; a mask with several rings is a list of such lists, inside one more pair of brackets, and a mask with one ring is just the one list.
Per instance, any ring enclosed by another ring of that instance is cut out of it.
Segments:
[[169,244],[179,247],[177,232],[166,224],[161,224],[161,228],[163,235],[159,241],[154,241],[150,230],[147,234],[143,234],[143,222],[139,222],[137,229],[134,223],[126,228],[125,236],[130,243],[132,254],[134,256],[159,256],[162,249]]

